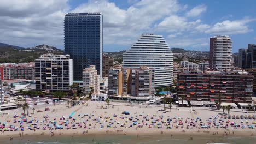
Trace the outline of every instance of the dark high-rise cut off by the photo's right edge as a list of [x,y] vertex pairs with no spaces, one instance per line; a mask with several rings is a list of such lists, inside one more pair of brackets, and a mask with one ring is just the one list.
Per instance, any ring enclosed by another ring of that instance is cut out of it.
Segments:
[[245,69],[256,68],[256,44],[248,44],[248,49],[245,52]]

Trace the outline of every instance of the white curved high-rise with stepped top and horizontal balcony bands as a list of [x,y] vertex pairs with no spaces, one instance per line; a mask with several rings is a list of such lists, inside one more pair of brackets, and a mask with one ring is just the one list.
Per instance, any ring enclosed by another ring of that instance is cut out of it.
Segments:
[[123,54],[124,68],[155,69],[155,87],[173,85],[173,53],[162,35],[142,34]]

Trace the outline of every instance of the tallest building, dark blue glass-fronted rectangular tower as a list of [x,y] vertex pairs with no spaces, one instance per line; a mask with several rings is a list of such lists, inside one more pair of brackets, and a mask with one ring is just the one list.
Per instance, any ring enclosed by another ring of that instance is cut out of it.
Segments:
[[103,17],[101,13],[68,13],[64,20],[65,53],[73,59],[73,79],[95,65],[102,77]]

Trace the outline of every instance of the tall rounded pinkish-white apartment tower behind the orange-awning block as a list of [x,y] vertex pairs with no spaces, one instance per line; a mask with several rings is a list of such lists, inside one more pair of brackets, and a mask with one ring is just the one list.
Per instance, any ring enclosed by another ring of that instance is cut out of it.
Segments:
[[232,68],[232,41],[229,36],[220,36],[210,38],[210,56],[209,68],[231,70]]

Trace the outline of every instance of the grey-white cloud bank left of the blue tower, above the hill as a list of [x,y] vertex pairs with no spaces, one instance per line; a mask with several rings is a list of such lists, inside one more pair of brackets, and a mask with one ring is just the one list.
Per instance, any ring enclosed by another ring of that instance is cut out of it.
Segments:
[[19,46],[63,45],[63,18],[68,9],[67,0],[3,0],[0,40]]

